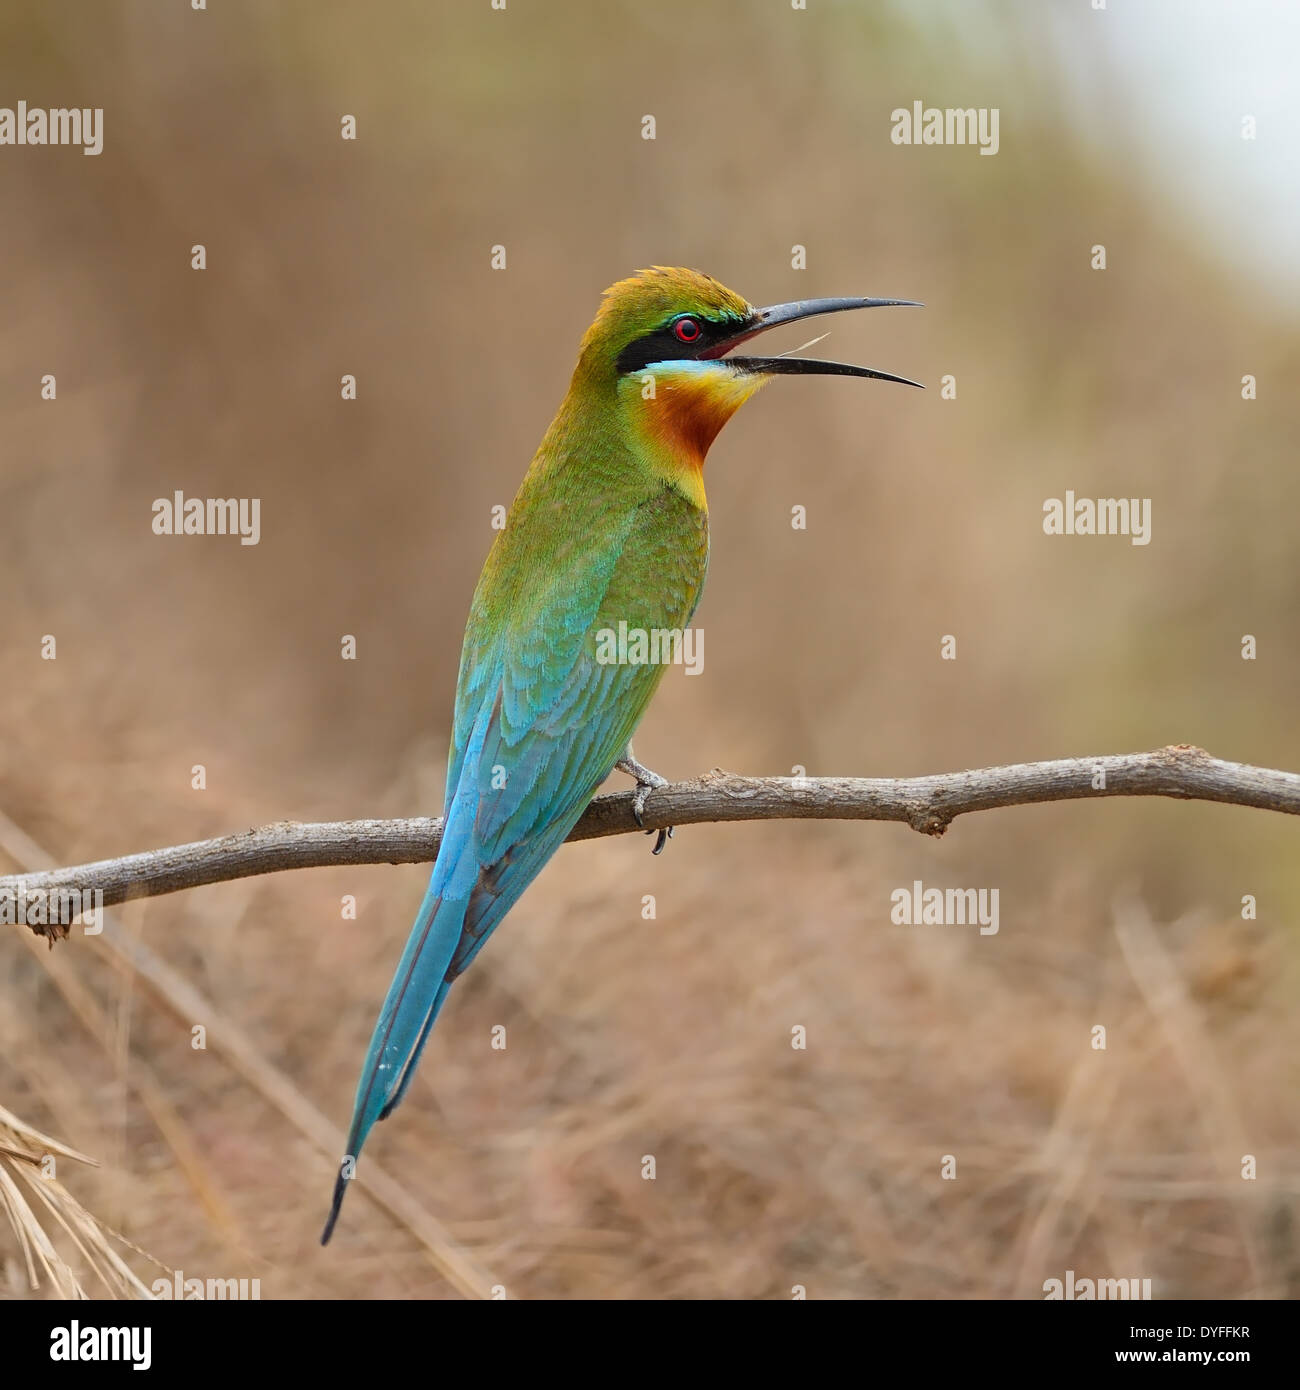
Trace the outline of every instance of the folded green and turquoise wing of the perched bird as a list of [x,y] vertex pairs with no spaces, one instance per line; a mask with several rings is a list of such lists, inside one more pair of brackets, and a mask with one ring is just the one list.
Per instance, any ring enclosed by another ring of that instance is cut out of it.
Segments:
[[[706,517],[665,489],[628,512],[613,534],[588,538],[581,564],[571,559],[517,598],[510,613],[489,613],[491,594],[482,603],[476,596],[448,823],[464,827],[470,844],[459,848],[471,849],[478,877],[449,977],[470,963],[564,841],[627,746],[663,666],[603,663],[598,634],[616,632],[620,623],[685,627],[708,563]],[[509,584],[502,588],[510,592]],[[473,767],[467,748],[476,752]]]

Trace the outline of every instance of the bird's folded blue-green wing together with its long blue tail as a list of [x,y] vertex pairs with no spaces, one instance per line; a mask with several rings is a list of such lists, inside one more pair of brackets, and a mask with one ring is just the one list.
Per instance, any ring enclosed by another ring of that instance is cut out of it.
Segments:
[[[662,510],[663,498],[648,506]],[[406,1094],[452,983],[567,838],[659,684],[662,666],[596,659],[595,632],[638,616],[620,566],[641,520],[633,509],[612,534],[587,534],[564,578],[512,609],[505,624],[485,620],[480,581],[460,660],[442,844],[366,1054],[323,1244],[361,1145]],[[641,600],[651,627],[681,624],[698,598],[690,578],[702,577],[706,531],[691,517],[684,525],[701,549],[694,563],[680,560],[679,584],[670,566],[658,573],[658,595]]]

